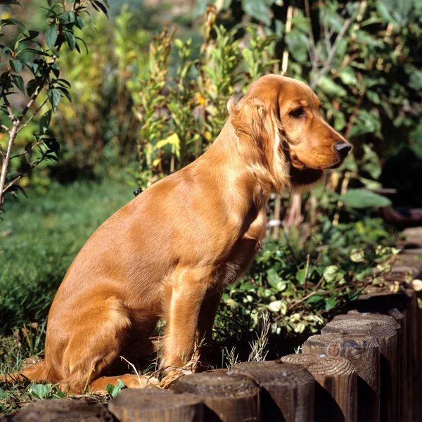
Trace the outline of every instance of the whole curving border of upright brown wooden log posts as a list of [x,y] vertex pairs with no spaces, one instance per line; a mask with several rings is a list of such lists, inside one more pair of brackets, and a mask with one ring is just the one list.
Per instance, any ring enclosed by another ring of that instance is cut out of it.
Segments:
[[[422,260],[406,252],[392,271],[404,286],[422,275]],[[123,390],[108,405],[41,400],[0,422],[422,421],[421,301],[411,288],[372,291],[309,337],[302,354],[183,376],[171,390]]]

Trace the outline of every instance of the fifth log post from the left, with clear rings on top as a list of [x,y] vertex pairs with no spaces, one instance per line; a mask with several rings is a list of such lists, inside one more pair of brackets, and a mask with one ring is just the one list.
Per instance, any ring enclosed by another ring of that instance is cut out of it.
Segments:
[[315,422],[357,422],[357,370],[347,359],[289,354],[281,362],[305,366],[314,376]]

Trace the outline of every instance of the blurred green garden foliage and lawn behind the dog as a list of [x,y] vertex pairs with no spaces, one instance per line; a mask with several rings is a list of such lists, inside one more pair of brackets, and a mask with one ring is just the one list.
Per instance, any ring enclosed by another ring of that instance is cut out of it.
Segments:
[[[27,27],[46,30],[44,3],[1,6],[1,18],[18,13]],[[395,250],[385,247],[395,234],[374,206],[422,206],[422,1],[210,3],[116,0],[109,20],[98,15],[84,28],[89,54],[60,51],[72,83],[72,103],[62,99],[51,124],[60,160],[23,177],[29,199],[9,196],[0,223],[4,338],[42,324],[92,231],[134,188],[203,153],[226,120],[229,97],[268,72],[311,84],[326,120],[354,149],[325,186],[271,198],[268,242],[225,293],[216,340],[240,344],[243,333],[245,344],[253,341],[264,312],[276,338],[315,332],[368,283],[388,284],[382,275]],[[18,152],[38,125],[34,119],[21,132]],[[11,170],[24,166],[22,157]],[[397,193],[388,199],[381,188]],[[42,341],[37,350],[30,344],[20,335],[4,356],[12,350],[17,366],[25,353],[42,352]]]

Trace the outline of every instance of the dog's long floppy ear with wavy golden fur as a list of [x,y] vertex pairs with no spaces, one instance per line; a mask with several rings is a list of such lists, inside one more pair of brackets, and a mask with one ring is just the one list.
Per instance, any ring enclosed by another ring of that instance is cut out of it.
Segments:
[[237,104],[230,98],[227,107],[245,164],[264,188],[281,191],[288,186],[289,176],[276,106],[246,95]]

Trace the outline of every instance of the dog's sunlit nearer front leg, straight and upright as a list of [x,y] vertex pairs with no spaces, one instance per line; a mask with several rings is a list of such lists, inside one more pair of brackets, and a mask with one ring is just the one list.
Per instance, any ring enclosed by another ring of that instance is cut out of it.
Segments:
[[192,357],[200,308],[207,291],[207,283],[189,274],[172,283],[167,328],[162,350],[161,367],[181,367]]

